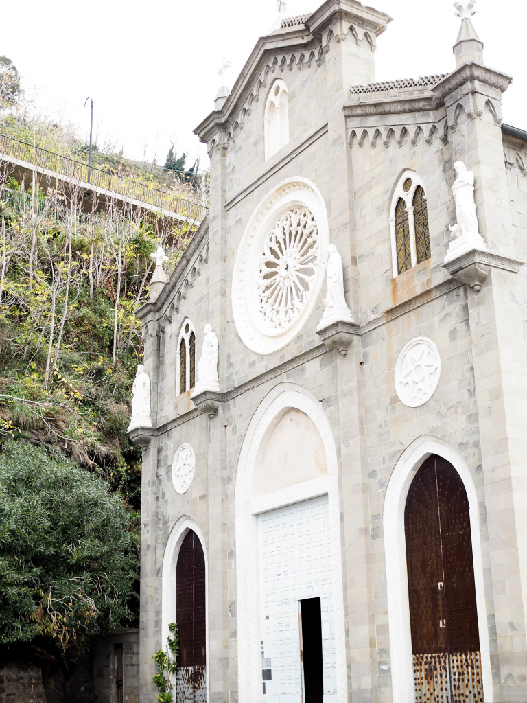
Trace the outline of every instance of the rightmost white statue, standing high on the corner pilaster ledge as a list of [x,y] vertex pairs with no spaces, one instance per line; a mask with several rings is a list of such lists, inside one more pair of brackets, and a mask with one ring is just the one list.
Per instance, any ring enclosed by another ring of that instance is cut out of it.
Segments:
[[452,186],[452,193],[455,200],[457,222],[449,226],[454,238],[448,247],[445,262],[473,249],[488,251],[478,228],[476,203],[474,202],[474,174],[467,169],[462,161],[456,161],[454,169],[456,179]]

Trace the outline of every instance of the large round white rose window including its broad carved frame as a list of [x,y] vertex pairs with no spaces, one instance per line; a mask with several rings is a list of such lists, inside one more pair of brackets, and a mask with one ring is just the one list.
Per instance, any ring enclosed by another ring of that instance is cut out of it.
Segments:
[[252,214],[233,270],[233,315],[242,342],[278,352],[315,307],[327,259],[327,213],[306,179],[282,181]]

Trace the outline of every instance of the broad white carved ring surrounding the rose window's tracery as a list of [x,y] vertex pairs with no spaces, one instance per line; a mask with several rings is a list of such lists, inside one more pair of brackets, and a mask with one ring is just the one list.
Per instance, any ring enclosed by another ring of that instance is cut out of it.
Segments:
[[[282,214],[295,207],[306,207],[318,228],[318,266],[306,303],[286,328],[263,328],[254,285],[263,246]],[[242,235],[233,268],[233,317],[242,342],[256,354],[273,354],[294,340],[313,312],[325,280],[329,228],[327,211],[320,191],[311,181],[291,178],[275,186],[257,205]]]

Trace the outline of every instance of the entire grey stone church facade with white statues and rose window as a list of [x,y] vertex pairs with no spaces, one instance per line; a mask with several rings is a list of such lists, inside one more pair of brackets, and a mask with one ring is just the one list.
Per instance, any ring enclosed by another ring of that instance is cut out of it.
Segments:
[[527,700],[527,133],[458,11],[389,83],[384,13],[283,18],[196,129],[139,312],[141,703],[170,623],[181,703]]

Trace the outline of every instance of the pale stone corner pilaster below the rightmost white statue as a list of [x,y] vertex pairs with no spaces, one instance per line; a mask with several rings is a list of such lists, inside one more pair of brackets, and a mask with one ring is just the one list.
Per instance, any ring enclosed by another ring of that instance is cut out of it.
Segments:
[[491,267],[479,293],[467,286],[490,541],[490,651],[495,699],[504,703],[527,700],[527,349],[514,295],[520,281]]

